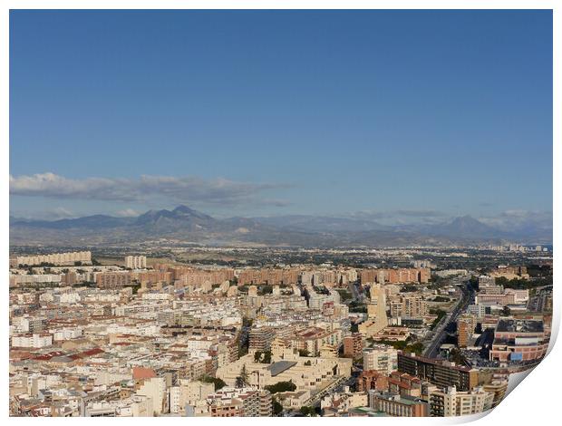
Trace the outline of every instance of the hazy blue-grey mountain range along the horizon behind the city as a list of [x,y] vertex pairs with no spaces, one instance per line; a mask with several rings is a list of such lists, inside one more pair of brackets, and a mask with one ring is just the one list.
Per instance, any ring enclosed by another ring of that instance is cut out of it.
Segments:
[[168,239],[181,242],[296,247],[405,247],[518,241],[549,243],[542,228],[502,230],[463,216],[437,225],[388,226],[364,218],[277,216],[213,218],[187,206],[132,218],[93,215],[59,220],[10,217],[10,244],[103,246]]

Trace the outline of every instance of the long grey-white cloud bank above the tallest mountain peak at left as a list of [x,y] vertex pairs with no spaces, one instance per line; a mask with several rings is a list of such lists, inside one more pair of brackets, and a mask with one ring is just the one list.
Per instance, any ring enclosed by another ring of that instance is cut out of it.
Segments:
[[235,206],[242,203],[279,205],[257,196],[286,185],[237,182],[229,179],[200,179],[142,175],[139,179],[68,179],[51,172],[11,176],[10,194],[25,197],[75,198],[143,202],[163,198],[171,202]]

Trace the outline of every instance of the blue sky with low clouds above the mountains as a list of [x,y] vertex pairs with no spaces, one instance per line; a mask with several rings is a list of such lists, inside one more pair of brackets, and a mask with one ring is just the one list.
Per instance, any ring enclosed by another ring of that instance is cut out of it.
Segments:
[[13,11],[10,174],[36,218],[549,212],[552,15]]

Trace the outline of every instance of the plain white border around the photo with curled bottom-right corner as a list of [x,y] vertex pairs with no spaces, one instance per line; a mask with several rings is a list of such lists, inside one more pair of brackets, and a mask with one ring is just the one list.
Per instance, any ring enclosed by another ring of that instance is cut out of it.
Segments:
[[[2,144],[0,146],[0,161],[3,163],[3,169],[5,170],[3,179],[0,180],[0,185],[5,194],[3,198],[3,208],[2,208],[2,220],[5,226],[2,228],[2,236],[4,240],[4,245],[2,246],[2,251],[0,252],[0,259],[3,260],[3,274],[5,276],[5,292],[8,292],[7,286],[7,276],[8,276],[8,257],[9,257],[9,10],[10,9],[553,9],[553,136],[557,143],[553,143],[553,218],[554,220],[554,232],[553,232],[553,246],[557,247],[557,242],[560,241],[560,227],[557,224],[556,218],[560,217],[560,179],[562,172],[562,164],[560,161],[560,147],[559,143],[561,138],[560,134],[560,84],[559,75],[561,72],[560,67],[560,40],[562,40],[560,34],[560,24],[561,16],[560,8],[557,7],[556,1],[528,1],[528,0],[512,0],[512,1],[499,1],[499,0],[450,0],[450,1],[415,1],[415,0],[379,0],[379,1],[360,1],[360,0],[348,0],[346,2],[342,1],[318,1],[318,0],[285,0],[285,1],[258,1],[258,0],[193,0],[193,1],[179,1],[179,0],[160,0],[160,1],[150,1],[150,0],[83,0],[80,2],[64,1],[64,0],[52,0],[52,1],[38,1],[38,0],[6,0],[1,6],[1,20],[0,20],[0,46],[2,61],[2,68],[5,73],[0,73],[0,95],[4,102],[0,106],[0,132],[2,135]],[[557,168],[558,166],[558,168]],[[558,189],[558,192],[557,192]],[[558,193],[558,196],[557,196]],[[557,251],[555,251],[555,264],[559,264],[557,259]],[[557,277],[557,271],[555,271],[555,277]],[[552,347],[552,344],[556,341],[557,332],[560,324],[560,309],[562,304],[560,303],[560,298],[557,293],[560,290],[554,290],[554,305],[555,311],[553,315],[552,324],[552,341],[551,341],[551,352],[547,355],[547,358],[538,365],[538,367],[529,374],[525,383],[509,394],[504,402],[501,402],[499,406],[491,411],[488,415],[476,415],[470,417],[460,417],[460,418],[418,418],[418,419],[404,419],[404,418],[377,418],[374,419],[361,419],[355,418],[348,421],[357,421],[367,424],[376,421],[378,424],[451,424],[451,423],[463,423],[468,421],[474,421],[483,417],[482,422],[491,423],[495,422],[497,424],[505,423],[515,423],[515,424],[531,424],[540,423],[549,424],[551,419],[554,418],[557,412],[558,403],[558,381],[557,376],[560,376],[559,362],[562,360],[562,350],[560,349],[560,344]],[[7,304],[9,303],[8,297],[6,297],[6,311]],[[5,372],[7,373],[9,359],[8,359],[8,316],[2,316],[2,325],[0,326],[2,345],[4,351],[2,352],[2,357],[5,363]],[[25,423],[31,424],[34,419],[24,419],[24,418],[13,418],[8,417],[8,386],[7,386],[7,374],[3,375],[4,384],[2,385],[0,392],[2,394],[2,401],[5,402],[5,415],[6,420],[10,424],[15,423]],[[170,422],[176,422],[176,424],[184,424],[187,421],[186,418],[137,418],[134,421],[142,424],[154,424],[155,421],[160,422],[163,419]],[[69,421],[60,418],[43,418],[42,421],[47,421],[51,423],[58,423],[59,421]],[[75,419],[70,421],[77,421]],[[81,418],[80,421],[94,421],[99,420],[92,418]],[[108,421],[104,419],[104,421]],[[111,419],[111,421],[125,422],[128,419]],[[198,424],[217,424],[218,422],[225,420],[210,419],[210,418],[190,418],[190,422],[196,422]],[[237,418],[229,419],[228,422],[231,424],[244,424],[244,423],[254,423],[258,424],[263,422],[263,419],[259,418]],[[271,418],[267,421],[286,421],[282,418]],[[334,422],[334,421],[345,421],[342,418],[292,418],[291,421],[310,424],[310,422],[318,422],[322,424]],[[124,423],[123,423],[124,424]],[[332,423],[334,424],[334,423]]]

